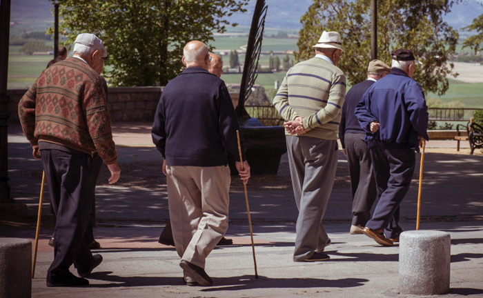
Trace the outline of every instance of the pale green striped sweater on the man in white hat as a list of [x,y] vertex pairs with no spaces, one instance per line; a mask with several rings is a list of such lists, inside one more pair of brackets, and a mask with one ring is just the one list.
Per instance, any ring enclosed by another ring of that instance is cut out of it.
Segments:
[[345,96],[344,72],[314,57],[288,70],[273,106],[285,121],[302,117],[304,128],[309,130],[304,137],[333,140],[337,139]]

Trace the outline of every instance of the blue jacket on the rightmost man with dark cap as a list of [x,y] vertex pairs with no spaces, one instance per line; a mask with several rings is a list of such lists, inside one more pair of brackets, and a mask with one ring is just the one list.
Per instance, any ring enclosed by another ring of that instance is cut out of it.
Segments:
[[[428,139],[428,107],[420,84],[399,68],[369,88],[357,104],[355,116],[367,132],[366,140],[380,139],[419,150],[417,136]],[[373,134],[371,122],[379,121]]]

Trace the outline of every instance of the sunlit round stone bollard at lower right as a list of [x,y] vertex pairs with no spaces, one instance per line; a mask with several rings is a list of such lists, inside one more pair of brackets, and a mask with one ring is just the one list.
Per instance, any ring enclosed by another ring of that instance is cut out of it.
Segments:
[[447,232],[402,232],[399,246],[401,294],[442,295],[449,292],[451,237]]

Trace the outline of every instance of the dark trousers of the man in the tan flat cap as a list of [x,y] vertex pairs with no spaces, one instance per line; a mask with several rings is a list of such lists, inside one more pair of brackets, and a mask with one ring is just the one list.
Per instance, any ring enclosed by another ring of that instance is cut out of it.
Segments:
[[371,154],[364,138],[366,135],[348,133],[346,143],[347,164],[351,176],[352,224],[366,226],[371,219],[371,208],[377,195]]

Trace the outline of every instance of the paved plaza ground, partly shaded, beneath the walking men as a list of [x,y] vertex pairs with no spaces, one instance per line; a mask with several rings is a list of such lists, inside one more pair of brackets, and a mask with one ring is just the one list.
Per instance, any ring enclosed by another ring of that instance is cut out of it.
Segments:
[[[161,161],[150,143],[149,123],[115,123],[113,127],[121,169]],[[30,217],[1,219],[0,236],[33,241],[41,162],[32,158],[19,126],[10,126],[9,132],[12,197],[27,204]],[[468,155],[465,143],[460,154],[455,147],[455,141],[428,143],[420,229],[451,235],[451,292],[442,297],[483,297],[483,155],[480,150]],[[418,154],[415,174],[419,174],[419,160]],[[286,162],[286,156],[282,157],[282,163]],[[342,151],[338,166],[346,167]],[[126,174],[121,172],[121,177]],[[415,175],[401,205],[404,230],[415,230],[417,187]],[[254,277],[244,192],[230,191],[226,237],[234,245],[218,246],[208,257],[206,272],[213,277],[213,287],[185,286],[175,248],[157,243],[168,220],[166,188],[98,186],[95,237],[102,248],[95,252],[104,260],[89,277],[90,286],[47,288],[46,272],[53,259],[53,248],[47,242],[53,221],[47,191],[45,198],[32,297],[406,297],[398,290],[399,246],[382,247],[364,235],[349,235],[348,188],[333,190],[324,217],[332,239],[326,248],[331,260],[295,263],[297,208],[292,190],[252,191],[248,183],[259,279]]]

